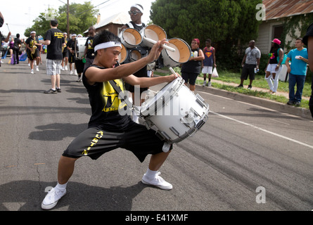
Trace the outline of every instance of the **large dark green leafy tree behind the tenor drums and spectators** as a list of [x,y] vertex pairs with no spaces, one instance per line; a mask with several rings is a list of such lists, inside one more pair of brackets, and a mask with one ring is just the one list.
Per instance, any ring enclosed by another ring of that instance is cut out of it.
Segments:
[[[241,58],[238,44],[257,39],[257,4],[262,0],[157,0],[152,3],[150,18],[168,38],[179,37],[188,43],[198,38],[202,48],[205,39],[212,39],[219,51],[217,57],[222,56],[225,62],[225,57]],[[237,59],[225,64],[236,67],[239,63]]]

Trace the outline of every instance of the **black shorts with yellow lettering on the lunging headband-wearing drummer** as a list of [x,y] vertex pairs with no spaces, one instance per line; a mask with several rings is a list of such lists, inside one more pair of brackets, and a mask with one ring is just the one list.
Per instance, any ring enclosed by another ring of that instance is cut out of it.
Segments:
[[131,122],[127,129],[119,132],[91,127],[70,143],[63,156],[69,158],[89,156],[96,160],[110,150],[124,148],[132,151],[139,161],[143,162],[148,154],[161,153],[164,142],[155,135],[153,129],[147,129],[142,124],[135,122]]

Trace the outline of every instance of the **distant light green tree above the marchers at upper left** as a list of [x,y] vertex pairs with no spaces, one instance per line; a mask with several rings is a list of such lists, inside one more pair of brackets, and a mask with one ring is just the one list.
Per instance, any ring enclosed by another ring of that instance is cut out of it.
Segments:
[[[70,33],[72,34],[82,34],[84,31],[88,30],[88,27],[96,24],[96,15],[98,10],[94,9],[94,6],[90,2],[85,2],[84,4],[70,4],[69,6],[69,21],[70,21]],[[28,27],[25,30],[25,37],[30,36],[30,32],[35,30],[37,35],[44,37],[46,31],[50,29],[51,18],[56,18],[58,20],[58,29],[63,32],[67,30],[67,6],[60,6],[58,11],[49,8],[48,11],[40,13],[39,17],[33,20],[34,25]]]

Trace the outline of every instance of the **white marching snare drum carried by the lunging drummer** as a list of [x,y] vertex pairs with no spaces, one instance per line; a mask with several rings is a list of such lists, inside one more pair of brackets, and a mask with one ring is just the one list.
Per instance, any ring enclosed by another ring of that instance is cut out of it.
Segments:
[[140,115],[148,129],[155,129],[167,143],[177,143],[200,129],[207,120],[209,105],[193,94],[181,77],[165,85],[142,105]]

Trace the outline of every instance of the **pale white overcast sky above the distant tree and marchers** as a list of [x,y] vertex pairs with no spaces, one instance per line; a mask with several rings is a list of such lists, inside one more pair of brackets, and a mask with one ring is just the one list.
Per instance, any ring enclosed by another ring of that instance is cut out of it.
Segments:
[[[85,1],[88,0],[69,0],[70,4],[84,4]],[[91,4],[97,6],[96,9],[99,10],[101,19],[120,12],[127,12],[133,4],[141,4],[144,10],[142,22],[147,23],[150,20],[150,8],[153,1],[155,0],[92,0]],[[25,29],[34,24],[32,20],[37,18],[40,13],[44,13],[49,7],[58,9],[59,6],[67,2],[67,0],[13,0],[11,3],[10,1],[1,1],[1,13],[4,15],[4,25],[0,28],[0,31],[6,36],[8,29],[10,29],[13,35],[19,33],[24,38]],[[4,7],[5,3],[7,4],[6,7]]]

